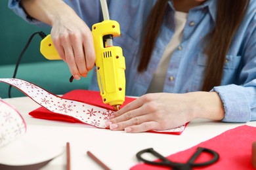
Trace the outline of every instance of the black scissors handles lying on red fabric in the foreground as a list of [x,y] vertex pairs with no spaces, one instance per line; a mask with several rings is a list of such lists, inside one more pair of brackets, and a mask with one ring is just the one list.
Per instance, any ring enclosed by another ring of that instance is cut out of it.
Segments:
[[[198,158],[198,156],[200,156],[200,154],[202,154],[202,152],[207,152],[207,153],[211,154],[213,156],[213,158],[209,161],[205,161],[202,163],[194,163],[196,158]],[[158,162],[158,161],[145,160],[144,158],[142,158],[142,154],[144,154],[144,153],[153,154],[157,158],[160,158],[161,161]],[[196,152],[190,157],[190,159],[186,163],[178,163],[178,162],[168,160],[167,158],[165,158],[164,156],[162,156],[161,154],[156,152],[153,148],[147,148],[147,149],[141,150],[140,152],[138,152],[136,154],[136,156],[137,156],[138,160],[144,161],[144,163],[148,163],[151,165],[163,166],[163,167],[172,167],[172,169],[174,169],[174,170],[189,170],[189,169],[192,169],[192,167],[205,167],[205,166],[211,165],[211,164],[215,163],[217,160],[219,160],[219,154],[217,152],[215,152],[214,150],[211,150],[209,148],[202,148],[202,147],[198,147]]]

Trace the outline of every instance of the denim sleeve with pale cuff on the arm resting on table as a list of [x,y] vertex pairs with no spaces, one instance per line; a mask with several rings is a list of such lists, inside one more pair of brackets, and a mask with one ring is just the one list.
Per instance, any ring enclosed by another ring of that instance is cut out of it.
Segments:
[[217,86],[224,106],[223,122],[249,122],[256,120],[256,16],[247,28],[242,52],[242,69],[238,83]]

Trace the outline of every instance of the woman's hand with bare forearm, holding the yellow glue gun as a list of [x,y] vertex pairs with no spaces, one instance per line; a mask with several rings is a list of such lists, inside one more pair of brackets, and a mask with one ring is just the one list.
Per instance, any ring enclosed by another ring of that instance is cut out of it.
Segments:
[[95,65],[93,37],[75,11],[62,0],[22,0],[21,5],[33,18],[53,26],[53,44],[74,78],[87,76]]

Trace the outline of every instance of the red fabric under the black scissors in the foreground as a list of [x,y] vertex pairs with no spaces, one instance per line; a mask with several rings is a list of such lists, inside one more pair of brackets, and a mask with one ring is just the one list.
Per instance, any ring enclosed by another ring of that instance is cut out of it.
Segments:
[[[211,150],[215,150],[215,152],[219,153],[219,160],[217,163],[209,165],[208,167],[203,168],[193,168],[193,169],[253,169],[253,165],[251,163],[252,156],[252,145],[253,141],[256,140],[256,127],[251,126],[240,126],[234,129],[230,129],[225,131],[221,135],[217,137],[213,137],[208,141],[200,143],[188,150],[184,150],[178,152],[177,154],[173,154],[171,156],[167,156],[167,158],[171,161],[177,161],[181,163],[185,163],[192,154],[196,151],[196,149],[200,147],[209,148]],[[156,150],[158,152],[158,150]],[[161,153],[160,153],[161,154]],[[206,160],[210,160],[209,155],[202,154],[196,162],[202,162]],[[144,163],[140,163],[131,167],[132,170],[137,169],[168,169],[157,167],[154,165],[146,165]]]

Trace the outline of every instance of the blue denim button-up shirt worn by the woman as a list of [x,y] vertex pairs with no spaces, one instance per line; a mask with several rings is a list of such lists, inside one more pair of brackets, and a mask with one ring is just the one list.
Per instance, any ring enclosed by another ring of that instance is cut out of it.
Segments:
[[[89,27],[102,22],[100,2],[95,0],[65,2],[87,23]],[[9,0],[9,8],[35,25],[44,25],[30,18],[19,5],[19,0]],[[110,19],[119,22],[121,37],[114,39],[121,46],[126,63],[126,95],[140,96],[147,92],[154,71],[175,31],[175,9],[171,1],[161,25],[160,34],[152,58],[144,73],[137,72],[142,32],[146,18],[156,0],[108,1]],[[163,92],[186,93],[200,91],[206,56],[203,53],[203,37],[215,27],[217,0],[207,0],[190,9],[184,27],[182,42],[173,52],[163,85]],[[90,86],[98,90],[96,75]],[[219,93],[224,105],[224,122],[247,122],[256,120],[256,1],[251,0],[249,9],[240,24],[226,55],[221,86],[211,90]]]

